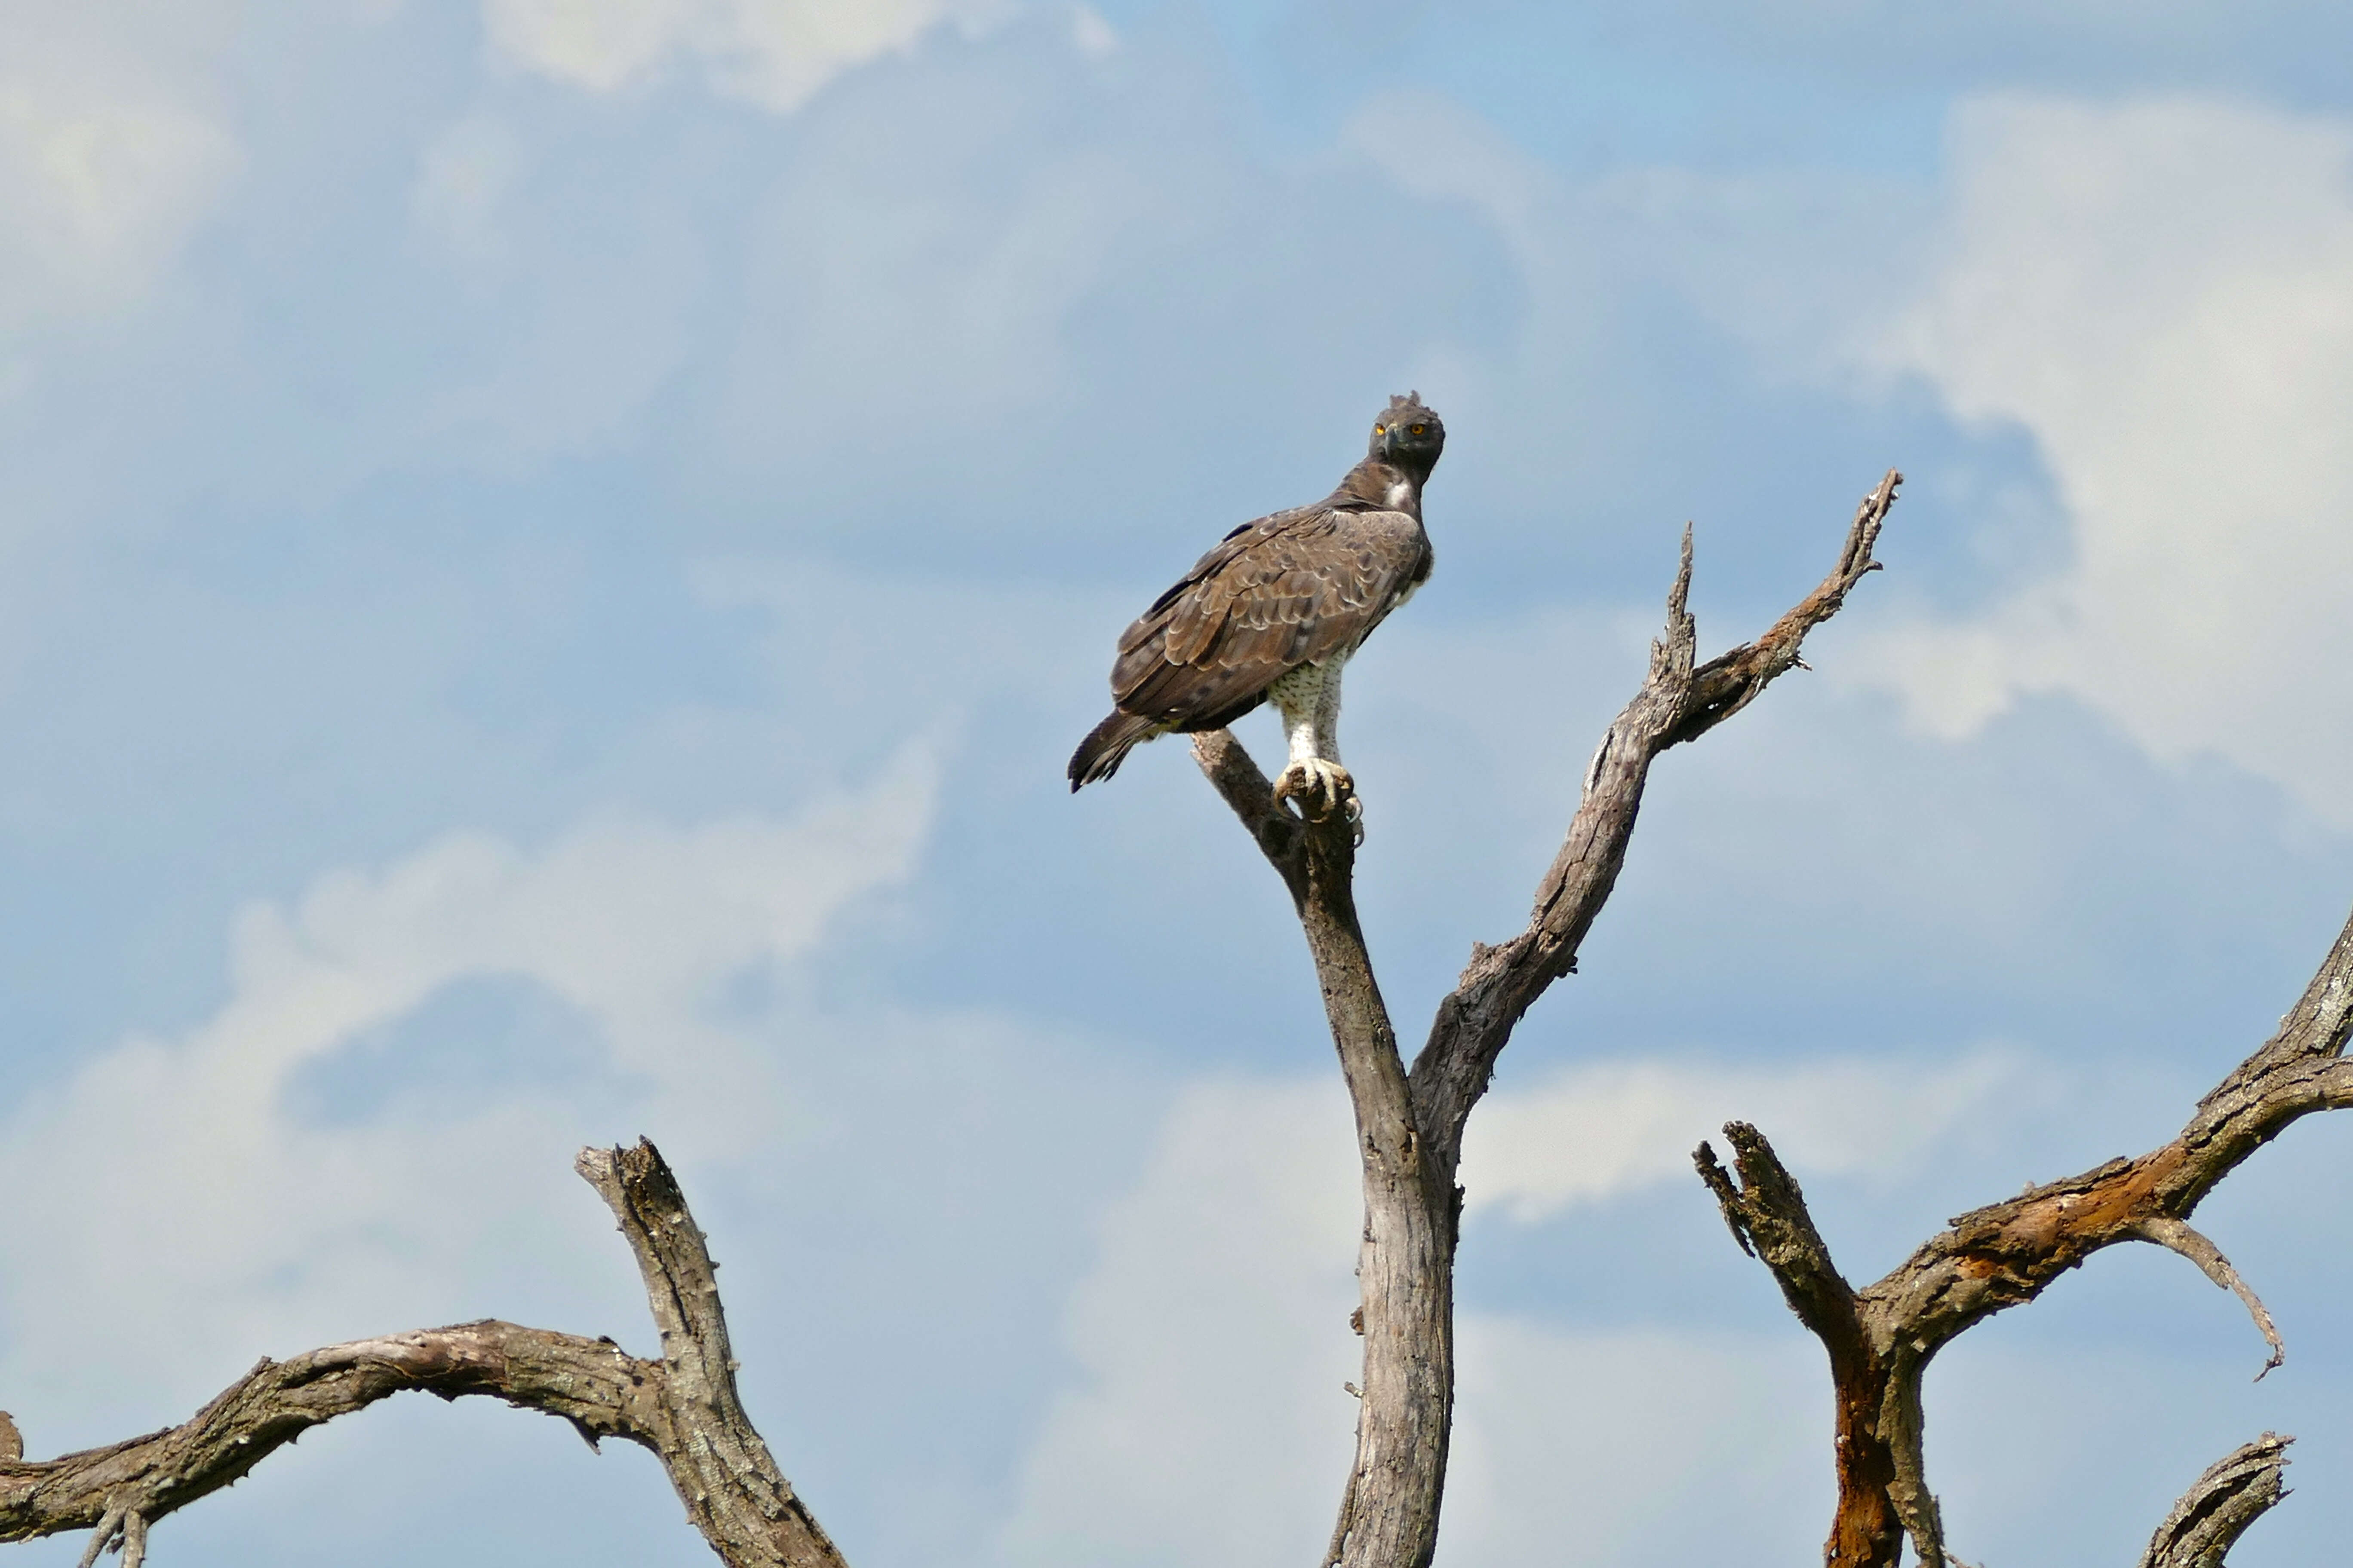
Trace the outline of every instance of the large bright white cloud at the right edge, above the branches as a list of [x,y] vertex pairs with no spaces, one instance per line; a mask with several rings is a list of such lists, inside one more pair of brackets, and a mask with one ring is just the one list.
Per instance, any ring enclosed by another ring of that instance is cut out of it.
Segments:
[[1991,99],[1955,115],[1953,181],[1866,357],[2033,433],[2073,559],[1859,663],[1941,733],[2071,693],[2353,823],[2353,125]]

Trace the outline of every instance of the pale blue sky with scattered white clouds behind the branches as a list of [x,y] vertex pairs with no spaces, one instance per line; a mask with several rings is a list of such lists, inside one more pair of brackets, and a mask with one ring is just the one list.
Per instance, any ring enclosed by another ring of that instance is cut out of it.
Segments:
[[[1697,524],[1720,646],[1911,477],[1812,675],[1661,762],[1473,1121],[1442,1563],[1809,1561],[1868,1279],[2148,1147],[2353,900],[2334,7],[16,0],[0,52],[0,1406],[31,1453],[468,1316],[645,1347],[654,1135],[861,1568],[1306,1561],[1346,1110],[1118,628],[1447,416],[1353,665],[1409,1037],[1525,917]],[[1261,750],[1273,726],[1254,719]],[[2353,1526],[2353,1128],[1929,1378],[1969,1561],[2122,1561],[2301,1434]],[[2146,1253],[2146,1255],[2141,1255]],[[1209,1502],[1205,1502],[1209,1500]],[[694,1563],[659,1472],[395,1403],[160,1561]],[[66,1563],[80,1542],[19,1547]]]

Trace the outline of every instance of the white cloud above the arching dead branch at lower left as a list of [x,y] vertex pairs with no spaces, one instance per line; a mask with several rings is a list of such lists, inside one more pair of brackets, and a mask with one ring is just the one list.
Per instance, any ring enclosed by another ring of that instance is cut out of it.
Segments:
[[786,823],[605,820],[541,853],[449,835],[245,910],[212,1018],[127,1039],[0,1131],[0,1251],[26,1260],[7,1276],[5,1382],[73,1389],[73,1420],[104,1432],[99,1366],[169,1399],[259,1347],[447,1316],[485,1258],[522,1279],[600,1274],[569,1152],[640,1128],[581,1126],[562,1088],[433,1070],[400,1074],[431,1117],[308,1126],[289,1107],[299,1074],[454,983],[515,978],[647,1086],[633,1110],[673,1154],[744,1152],[774,1133],[788,1086],[715,1009],[720,985],[805,954],[847,900],[904,879],[929,799],[911,752]]

